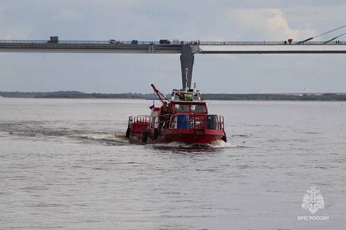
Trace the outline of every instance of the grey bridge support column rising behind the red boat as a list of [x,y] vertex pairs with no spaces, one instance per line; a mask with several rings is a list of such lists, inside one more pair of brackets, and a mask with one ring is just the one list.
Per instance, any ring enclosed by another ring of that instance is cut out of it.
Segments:
[[194,64],[194,53],[192,52],[191,46],[184,45],[181,47],[180,63],[183,89],[185,89],[186,86],[186,69],[188,69],[188,88],[191,88],[192,68]]

